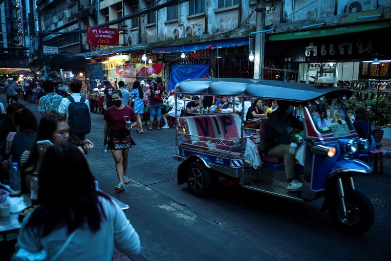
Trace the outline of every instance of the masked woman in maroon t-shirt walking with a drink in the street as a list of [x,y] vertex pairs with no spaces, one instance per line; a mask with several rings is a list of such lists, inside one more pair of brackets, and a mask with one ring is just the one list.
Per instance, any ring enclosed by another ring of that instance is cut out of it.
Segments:
[[111,94],[112,107],[105,113],[105,139],[103,145],[108,145],[108,149],[115,161],[115,169],[119,179],[116,190],[126,190],[125,184],[129,183],[126,175],[128,168],[129,149],[135,145],[130,136],[131,129],[137,125],[136,115],[129,106],[122,103],[122,92],[114,90]]

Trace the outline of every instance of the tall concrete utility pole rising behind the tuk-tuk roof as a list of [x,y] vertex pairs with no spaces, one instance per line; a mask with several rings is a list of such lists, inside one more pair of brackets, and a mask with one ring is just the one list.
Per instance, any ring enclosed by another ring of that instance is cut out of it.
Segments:
[[[256,31],[262,31],[265,26],[265,3],[264,0],[258,0],[257,3],[257,25]],[[263,79],[263,57],[264,57],[265,34],[257,33],[255,37],[254,54],[254,79]]]

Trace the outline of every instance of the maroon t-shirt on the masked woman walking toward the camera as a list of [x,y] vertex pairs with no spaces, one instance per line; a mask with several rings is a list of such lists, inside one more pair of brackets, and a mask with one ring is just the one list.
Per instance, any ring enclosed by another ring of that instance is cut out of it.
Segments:
[[105,113],[105,120],[109,123],[110,129],[114,131],[126,130],[125,118],[131,122],[137,121],[134,110],[126,105],[122,109],[115,109],[115,106],[111,106]]

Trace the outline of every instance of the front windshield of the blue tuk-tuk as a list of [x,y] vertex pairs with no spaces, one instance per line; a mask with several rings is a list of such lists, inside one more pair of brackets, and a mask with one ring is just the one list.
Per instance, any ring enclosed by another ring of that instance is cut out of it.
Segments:
[[336,136],[348,136],[354,130],[349,115],[340,100],[316,100],[308,105],[316,128],[321,132],[333,132]]

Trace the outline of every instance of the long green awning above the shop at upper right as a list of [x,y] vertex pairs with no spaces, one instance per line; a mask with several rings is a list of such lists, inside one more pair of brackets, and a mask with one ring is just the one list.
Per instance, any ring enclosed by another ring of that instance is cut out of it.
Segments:
[[357,32],[371,31],[391,27],[391,21],[344,25],[339,27],[328,27],[315,30],[302,30],[290,33],[269,35],[269,41],[298,40],[316,37],[326,37],[334,35],[345,35]]

